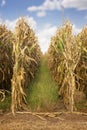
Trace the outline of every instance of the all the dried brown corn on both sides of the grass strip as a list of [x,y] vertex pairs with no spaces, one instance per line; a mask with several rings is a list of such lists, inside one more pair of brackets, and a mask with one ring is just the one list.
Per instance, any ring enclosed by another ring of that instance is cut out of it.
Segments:
[[[73,112],[75,91],[87,96],[87,27],[73,35],[71,23],[66,22],[51,38],[46,57],[58,93],[67,110]],[[38,39],[25,18],[18,20],[14,32],[0,25],[0,100],[11,91],[13,114],[26,108],[25,89],[35,77],[41,58]]]

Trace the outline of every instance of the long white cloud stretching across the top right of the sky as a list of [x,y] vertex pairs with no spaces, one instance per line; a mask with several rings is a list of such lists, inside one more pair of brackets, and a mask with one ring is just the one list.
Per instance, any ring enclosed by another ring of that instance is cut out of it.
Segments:
[[62,7],[87,10],[87,0],[45,0],[41,5],[30,6],[27,10],[36,12],[38,17],[42,17],[46,16],[46,11],[60,10]]

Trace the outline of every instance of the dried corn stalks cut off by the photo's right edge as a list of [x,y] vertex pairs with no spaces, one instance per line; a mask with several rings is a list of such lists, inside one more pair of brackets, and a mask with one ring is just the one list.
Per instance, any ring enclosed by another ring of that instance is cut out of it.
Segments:
[[77,36],[81,46],[81,57],[76,67],[77,89],[84,91],[87,96],[87,27]]

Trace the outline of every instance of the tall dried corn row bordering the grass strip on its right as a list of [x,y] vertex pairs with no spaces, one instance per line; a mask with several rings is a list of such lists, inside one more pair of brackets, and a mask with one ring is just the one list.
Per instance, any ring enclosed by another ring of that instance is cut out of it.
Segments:
[[59,86],[68,110],[74,110],[75,75],[74,70],[80,58],[80,47],[72,36],[72,26],[65,23],[51,40],[48,51],[49,68]]

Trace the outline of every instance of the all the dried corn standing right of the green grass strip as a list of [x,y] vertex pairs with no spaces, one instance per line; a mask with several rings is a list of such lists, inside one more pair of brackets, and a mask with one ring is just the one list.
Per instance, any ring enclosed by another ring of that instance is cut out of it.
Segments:
[[87,28],[75,36],[72,25],[66,22],[51,38],[48,49],[48,66],[52,78],[58,84],[59,94],[66,108],[76,110],[74,94],[76,89],[87,94]]

